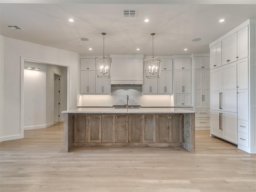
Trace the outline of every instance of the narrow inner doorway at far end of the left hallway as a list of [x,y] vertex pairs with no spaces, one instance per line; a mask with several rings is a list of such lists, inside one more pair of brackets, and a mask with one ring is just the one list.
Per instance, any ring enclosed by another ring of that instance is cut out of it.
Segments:
[[60,122],[61,76],[54,73],[54,122]]

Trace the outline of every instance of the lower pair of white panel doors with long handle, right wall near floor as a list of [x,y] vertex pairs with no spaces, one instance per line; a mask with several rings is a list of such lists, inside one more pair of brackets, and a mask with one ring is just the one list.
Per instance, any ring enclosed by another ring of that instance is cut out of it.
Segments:
[[237,113],[211,110],[211,135],[237,144]]

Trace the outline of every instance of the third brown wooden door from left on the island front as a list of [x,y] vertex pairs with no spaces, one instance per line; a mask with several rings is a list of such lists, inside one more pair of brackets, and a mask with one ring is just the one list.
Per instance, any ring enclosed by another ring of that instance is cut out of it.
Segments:
[[102,142],[115,142],[114,115],[102,115]]

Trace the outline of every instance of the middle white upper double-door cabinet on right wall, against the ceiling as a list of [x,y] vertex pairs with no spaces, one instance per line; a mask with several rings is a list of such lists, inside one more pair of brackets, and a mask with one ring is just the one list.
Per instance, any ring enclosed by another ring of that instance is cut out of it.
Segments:
[[222,65],[237,60],[237,34],[234,33],[228,38],[222,40]]

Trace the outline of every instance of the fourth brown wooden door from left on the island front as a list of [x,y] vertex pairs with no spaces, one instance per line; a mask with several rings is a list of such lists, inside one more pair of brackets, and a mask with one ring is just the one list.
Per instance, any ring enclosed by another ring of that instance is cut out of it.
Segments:
[[128,142],[128,115],[116,115],[115,142]]

